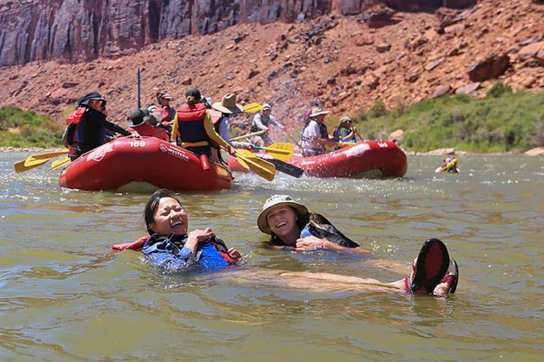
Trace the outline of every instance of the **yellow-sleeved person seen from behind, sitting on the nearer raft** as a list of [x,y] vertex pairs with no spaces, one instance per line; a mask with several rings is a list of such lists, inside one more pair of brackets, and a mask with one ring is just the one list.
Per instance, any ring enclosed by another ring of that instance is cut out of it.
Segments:
[[210,112],[200,103],[200,91],[190,88],[185,96],[186,104],[178,108],[174,119],[175,139],[179,139],[181,147],[197,155],[205,154],[209,158],[212,141],[214,146],[222,146],[231,155],[234,154],[234,148],[215,132]]

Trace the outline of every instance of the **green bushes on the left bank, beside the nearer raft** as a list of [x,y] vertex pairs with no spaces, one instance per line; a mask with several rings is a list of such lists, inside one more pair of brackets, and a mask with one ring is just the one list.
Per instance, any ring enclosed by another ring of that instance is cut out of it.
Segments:
[[0,107],[0,146],[62,147],[64,126],[30,110]]

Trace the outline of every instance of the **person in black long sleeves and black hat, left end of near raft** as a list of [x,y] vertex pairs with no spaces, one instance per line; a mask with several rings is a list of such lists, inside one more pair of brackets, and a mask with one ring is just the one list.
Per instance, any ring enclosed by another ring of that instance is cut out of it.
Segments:
[[[106,115],[102,112],[102,105],[106,101],[98,92],[87,93],[81,105],[86,107],[85,113],[81,122],[77,124],[77,141],[78,149],[77,156],[91,151],[92,149],[101,146],[107,141],[106,130],[123,134],[123,136],[132,135],[123,127],[113,124],[106,120]],[[137,132],[133,133],[138,136]]]

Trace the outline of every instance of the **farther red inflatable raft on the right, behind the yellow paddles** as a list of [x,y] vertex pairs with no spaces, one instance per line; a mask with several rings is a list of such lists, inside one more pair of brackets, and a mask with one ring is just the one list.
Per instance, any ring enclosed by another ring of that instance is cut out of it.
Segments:
[[[406,155],[392,141],[363,141],[321,156],[295,154],[289,163],[312,177],[402,177],[408,169]],[[246,171],[233,157],[229,168]]]

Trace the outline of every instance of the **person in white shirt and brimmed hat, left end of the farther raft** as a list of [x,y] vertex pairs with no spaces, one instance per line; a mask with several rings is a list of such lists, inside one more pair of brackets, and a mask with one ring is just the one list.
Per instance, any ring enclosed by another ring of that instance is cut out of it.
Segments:
[[329,139],[327,126],[324,124],[325,115],[327,114],[329,114],[329,111],[320,107],[312,110],[312,114],[302,128],[300,136],[302,156],[318,156],[325,152],[324,145],[335,146],[336,142]]

